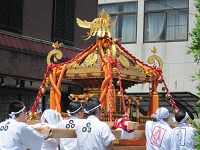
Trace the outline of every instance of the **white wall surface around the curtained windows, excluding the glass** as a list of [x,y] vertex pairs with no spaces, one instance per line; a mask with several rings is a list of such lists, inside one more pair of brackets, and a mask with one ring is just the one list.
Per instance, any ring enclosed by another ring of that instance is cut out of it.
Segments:
[[[99,4],[130,2],[131,0],[98,0]],[[132,0],[137,1],[137,0]],[[194,0],[189,0],[189,32],[195,27],[195,6]],[[157,48],[157,55],[163,61],[163,75],[167,86],[171,92],[189,91],[197,93],[196,86],[200,81],[191,81],[191,76],[200,69],[200,65],[194,63],[193,55],[186,54],[191,43],[191,37],[183,42],[158,42],[143,43],[143,20],[144,20],[144,0],[138,0],[138,22],[137,22],[137,43],[122,44],[126,50],[138,59],[147,63],[147,58],[152,55],[149,49]],[[158,91],[161,91],[159,85]],[[126,90],[126,92],[148,92],[148,84],[136,85]]]

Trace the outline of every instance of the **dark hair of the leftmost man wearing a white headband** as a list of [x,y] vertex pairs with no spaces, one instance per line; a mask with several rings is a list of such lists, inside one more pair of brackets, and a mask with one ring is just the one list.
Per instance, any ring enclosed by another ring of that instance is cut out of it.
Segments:
[[[9,104],[8,104],[8,114],[11,114],[11,112],[18,112],[20,111],[22,108],[24,107],[24,104],[20,101],[11,101]],[[15,114],[15,118],[18,118],[20,115],[19,114]]]

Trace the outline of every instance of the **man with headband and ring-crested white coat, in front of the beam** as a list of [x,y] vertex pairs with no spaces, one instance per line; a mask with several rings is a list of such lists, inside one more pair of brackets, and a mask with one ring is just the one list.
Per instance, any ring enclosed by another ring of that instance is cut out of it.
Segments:
[[76,128],[78,150],[114,150],[115,136],[105,122],[100,121],[101,104],[98,98],[91,97],[85,102],[87,119],[82,119]]

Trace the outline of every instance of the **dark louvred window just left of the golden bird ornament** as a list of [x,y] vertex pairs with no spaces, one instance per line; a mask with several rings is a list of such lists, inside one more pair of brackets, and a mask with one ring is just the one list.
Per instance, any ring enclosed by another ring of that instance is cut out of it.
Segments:
[[54,0],[53,41],[73,45],[74,0]]

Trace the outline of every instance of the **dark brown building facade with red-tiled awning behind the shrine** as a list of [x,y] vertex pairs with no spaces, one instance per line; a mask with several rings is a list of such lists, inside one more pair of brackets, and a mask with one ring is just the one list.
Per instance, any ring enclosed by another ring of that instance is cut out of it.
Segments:
[[[21,100],[27,110],[31,108],[46,71],[47,55],[53,50],[52,43],[64,44],[60,61],[73,58],[91,44],[81,37],[85,31],[78,27],[76,18],[92,21],[97,16],[97,5],[94,0],[1,2],[0,121],[7,117],[6,105],[11,100]],[[66,83],[61,92],[63,99],[68,99],[69,93],[81,92],[81,88]],[[42,97],[43,109],[48,107],[46,93]]]

